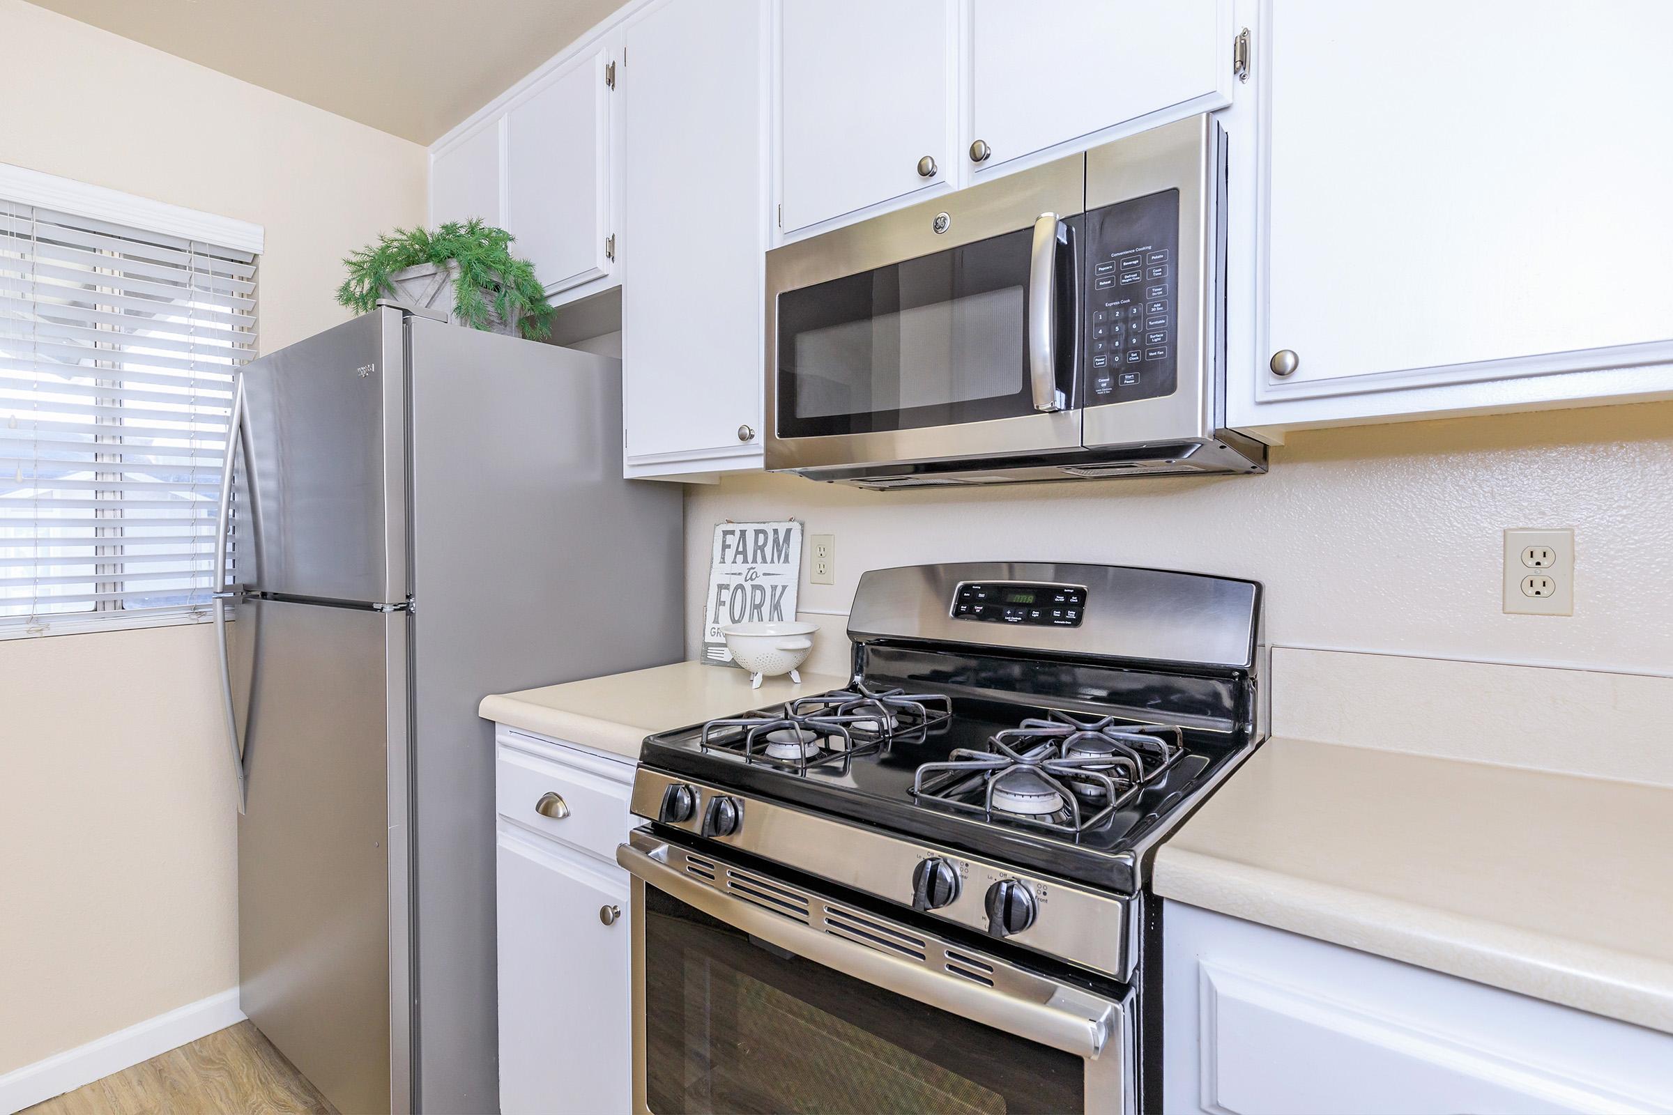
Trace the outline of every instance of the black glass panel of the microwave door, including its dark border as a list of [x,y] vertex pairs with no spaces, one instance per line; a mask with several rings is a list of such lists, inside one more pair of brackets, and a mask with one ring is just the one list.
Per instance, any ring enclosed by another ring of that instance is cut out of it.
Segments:
[[780,294],[778,436],[1032,413],[1032,244],[1029,227]]

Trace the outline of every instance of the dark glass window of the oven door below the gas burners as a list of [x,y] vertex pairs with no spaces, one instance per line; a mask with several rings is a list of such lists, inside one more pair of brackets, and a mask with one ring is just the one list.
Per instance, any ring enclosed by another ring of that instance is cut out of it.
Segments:
[[657,1115],[1084,1110],[1084,1062],[883,991],[646,886]]

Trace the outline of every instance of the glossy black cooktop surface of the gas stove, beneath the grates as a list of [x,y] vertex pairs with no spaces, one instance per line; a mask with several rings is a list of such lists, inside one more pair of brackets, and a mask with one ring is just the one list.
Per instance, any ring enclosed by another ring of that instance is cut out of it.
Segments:
[[[848,719],[838,717],[845,732],[826,737],[830,747],[800,754],[795,747],[780,746],[780,757],[766,751],[768,731],[746,741],[748,726],[711,727],[708,737],[701,724],[651,736],[644,741],[641,762],[666,774],[736,789],[756,797],[796,804],[847,821],[873,824],[902,836],[947,844],[972,854],[987,856],[1019,868],[1047,871],[1062,878],[1108,886],[1121,891],[1136,889],[1136,864],[1133,846],[1146,832],[1166,819],[1179,801],[1201,786],[1225,762],[1231,761],[1246,736],[1240,732],[1186,727],[1184,752],[1151,781],[1141,782],[1136,792],[1118,794],[1116,807],[1099,822],[1081,831],[1052,831],[1051,817],[1007,817],[1004,812],[987,819],[977,811],[960,811],[940,802],[925,802],[913,794],[918,767],[927,762],[944,762],[955,749],[990,751],[990,739],[1009,729],[1017,729],[1027,719],[1049,719],[1054,707],[1022,704],[1002,699],[962,695],[955,689],[939,689],[915,682],[880,680],[905,685],[910,692],[947,692],[952,714],[932,715],[929,722],[912,727],[905,724],[890,737],[877,732],[877,717],[867,709],[850,709]],[[798,710],[806,710],[800,704]],[[816,707],[816,705],[815,705]],[[945,707],[945,705],[942,705]],[[1071,705],[1074,715],[1089,719],[1099,710],[1087,702]],[[766,707],[765,714],[776,717],[783,707]],[[1164,715],[1153,720],[1118,717],[1119,724],[1171,722]],[[773,731],[783,731],[781,727]],[[1169,734],[1168,739],[1176,739]],[[795,737],[778,736],[778,741],[795,742]],[[748,744],[748,746],[746,746]],[[748,751],[748,757],[744,752]],[[947,787],[947,781],[935,782]],[[1062,784],[1059,781],[1059,784]],[[927,782],[929,786],[929,782]],[[980,776],[955,789],[965,791],[982,802]],[[1076,802],[1079,816],[1099,812],[1101,801]],[[1069,821],[1067,812],[1057,814]],[[1047,821],[1047,824],[1041,824]],[[1074,827],[1074,826],[1064,826]]]

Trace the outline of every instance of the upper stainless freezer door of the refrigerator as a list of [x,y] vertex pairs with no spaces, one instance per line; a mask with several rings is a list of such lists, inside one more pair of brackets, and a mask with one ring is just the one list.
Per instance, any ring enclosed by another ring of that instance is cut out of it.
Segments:
[[407,598],[407,368],[376,309],[244,368],[256,575],[284,597]]

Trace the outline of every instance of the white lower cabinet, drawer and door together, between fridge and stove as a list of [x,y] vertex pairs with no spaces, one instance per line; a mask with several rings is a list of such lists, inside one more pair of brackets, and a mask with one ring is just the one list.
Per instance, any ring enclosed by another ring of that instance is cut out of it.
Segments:
[[500,1112],[626,1112],[631,876],[614,853],[632,826],[632,766],[504,727],[499,739]]

